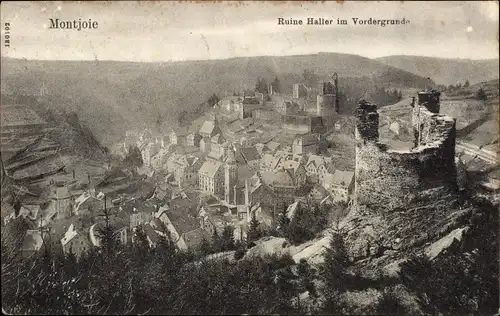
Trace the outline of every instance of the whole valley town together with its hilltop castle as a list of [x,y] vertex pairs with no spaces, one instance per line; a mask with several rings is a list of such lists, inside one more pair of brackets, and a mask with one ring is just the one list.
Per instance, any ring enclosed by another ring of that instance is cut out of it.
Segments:
[[[338,80],[334,74],[319,88],[295,84],[292,96],[273,91],[272,84],[265,93],[226,95],[191,126],[168,135],[129,131],[113,148],[127,167],[111,163],[100,178],[75,175],[74,169],[63,171],[61,162],[50,162],[54,174],[69,179],[51,179],[46,202],[15,196],[13,206],[4,203],[3,224],[19,216],[31,219],[26,254],[50,242],[77,257],[99,246],[96,231],[104,225],[104,212],[112,214],[124,244],[143,226],[151,245],[168,235],[181,250],[197,249],[225,230],[244,242],[252,220],[261,234],[272,234],[284,218],[290,225],[311,208],[325,210],[324,229],[347,210],[354,193],[353,140],[346,136],[353,137],[354,129],[350,117],[340,113]],[[45,90],[40,88],[41,95]],[[42,127],[36,113],[27,112],[23,115],[33,116],[31,128]],[[28,147],[6,162],[15,158],[29,165],[38,161],[33,155],[57,150],[43,135]],[[9,174],[22,179],[26,172],[16,164],[4,170],[7,179]],[[134,181],[143,186],[131,190]],[[332,207],[339,214],[326,211]]]

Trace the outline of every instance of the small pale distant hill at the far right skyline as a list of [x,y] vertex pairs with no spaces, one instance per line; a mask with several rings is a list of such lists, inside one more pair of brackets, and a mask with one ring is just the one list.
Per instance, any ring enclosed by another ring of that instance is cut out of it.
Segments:
[[474,84],[499,78],[498,59],[469,60],[423,56],[386,56],[375,60],[422,77],[430,77],[437,84],[463,84],[466,80]]

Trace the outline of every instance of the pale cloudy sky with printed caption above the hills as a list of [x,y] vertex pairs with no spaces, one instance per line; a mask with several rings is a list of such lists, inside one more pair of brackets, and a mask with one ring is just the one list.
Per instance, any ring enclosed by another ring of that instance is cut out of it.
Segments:
[[[348,25],[278,25],[278,18]],[[97,29],[50,29],[49,19]],[[352,18],[405,25],[354,25]],[[2,56],[161,62],[337,52],[498,58],[498,2],[2,2]],[[10,23],[10,47],[4,46]]]

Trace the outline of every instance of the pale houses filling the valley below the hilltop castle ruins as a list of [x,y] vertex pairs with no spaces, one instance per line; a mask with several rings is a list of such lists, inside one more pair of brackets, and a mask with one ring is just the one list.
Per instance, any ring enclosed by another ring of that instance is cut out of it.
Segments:
[[[294,86],[294,102],[305,92],[306,88]],[[254,216],[262,229],[274,228],[280,213],[293,220],[299,208],[311,203],[349,203],[354,172],[336,169],[334,159],[325,154],[327,142],[321,131],[308,130],[284,140],[272,123],[266,130],[263,121],[270,113],[262,112],[269,110],[262,107],[265,102],[293,107],[293,102],[276,102],[279,99],[276,93],[256,92],[225,97],[209,118],[166,136],[149,129],[127,132],[115,153],[125,157],[132,147],[138,148],[140,169],[156,187],[147,197],[125,194],[113,199],[95,186],[79,192],[55,186],[43,210],[40,205],[22,205],[6,211],[2,222],[23,217],[34,223],[23,244],[26,253],[40,250],[48,238],[63,252],[80,256],[100,247],[99,231],[105,225],[100,215],[105,209],[113,214],[110,223],[123,244],[134,242],[141,225],[151,246],[165,236],[179,249],[192,249],[227,225],[234,228],[235,239],[246,238]],[[219,120],[215,113],[225,118]],[[125,184],[129,177],[122,173],[107,177]]]

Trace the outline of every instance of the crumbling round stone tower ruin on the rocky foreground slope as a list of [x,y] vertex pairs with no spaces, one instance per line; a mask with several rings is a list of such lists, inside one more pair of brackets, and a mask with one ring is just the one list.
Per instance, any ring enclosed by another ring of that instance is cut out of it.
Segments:
[[[455,120],[417,106],[416,147],[392,150],[378,141],[376,106],[360,102],[356,123],[356,187],[358,209],[389,211],[404,207],[425,189],[453,188]],[[415,115],[413,115],[415,118]]]

